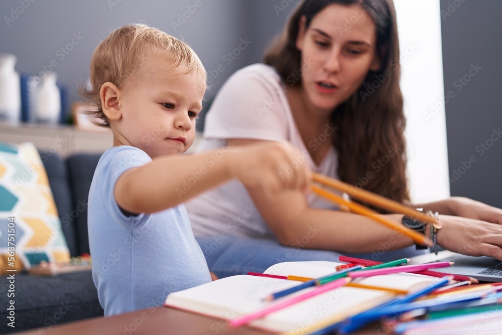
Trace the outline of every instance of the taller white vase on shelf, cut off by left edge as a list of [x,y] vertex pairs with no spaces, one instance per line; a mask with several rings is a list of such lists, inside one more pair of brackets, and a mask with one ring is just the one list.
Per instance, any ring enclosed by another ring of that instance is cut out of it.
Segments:
[[0,122],[21,120],[21,81],[14,67],[17,57],[0,53]]

